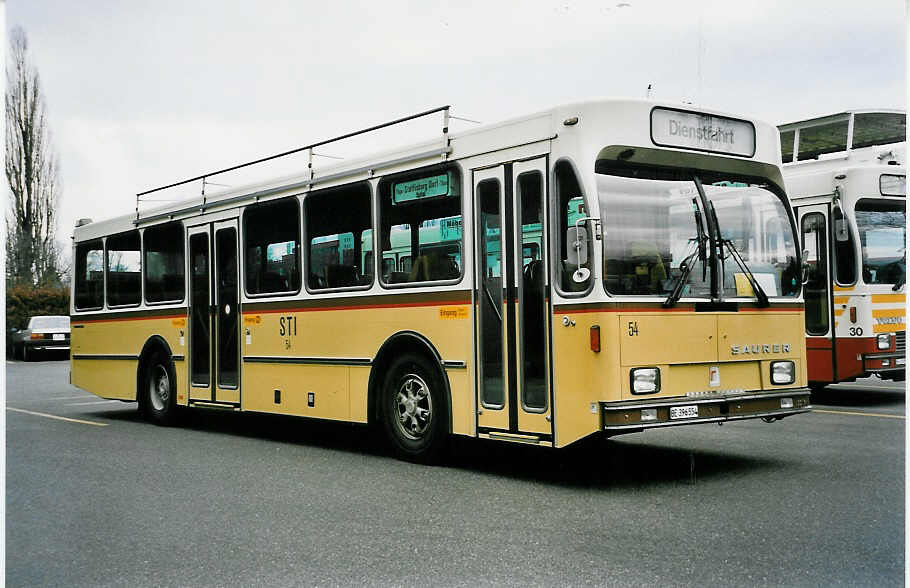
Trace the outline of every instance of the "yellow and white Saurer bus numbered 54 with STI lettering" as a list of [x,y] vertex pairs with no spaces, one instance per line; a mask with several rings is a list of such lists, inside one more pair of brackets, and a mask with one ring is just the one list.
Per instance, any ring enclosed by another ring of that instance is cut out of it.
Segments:
[[458,134],[434,113],[426,143],[80,223],[73,384],[159,423],[375,423],[414,460],[809,410],[774,126],[637,100]]

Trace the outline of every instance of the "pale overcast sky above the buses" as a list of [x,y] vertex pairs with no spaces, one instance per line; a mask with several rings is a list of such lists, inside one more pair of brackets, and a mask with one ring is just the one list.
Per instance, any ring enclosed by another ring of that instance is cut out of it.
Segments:
[[585,98],[643,98],[651,84],[661,100],[773,123],[904,108],[905,9],[903,0],[10,0],[6,24],[25,29],[41,75],[68,242],[76,218],[129,213],[136,192],[444,104],[495,122]]

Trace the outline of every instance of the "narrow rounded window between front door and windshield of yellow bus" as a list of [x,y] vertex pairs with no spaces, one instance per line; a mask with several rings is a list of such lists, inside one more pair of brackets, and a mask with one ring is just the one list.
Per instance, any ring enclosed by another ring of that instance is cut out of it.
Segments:
[[[576,282],[572,276],[579,267],[591,267],[593,254],[593,245],[591,238],[591,223],[581,222],[578,224],[580,229],[579,243],[585,248],[576,256],[570,249],[575,245],[576,239],[570,239],[570,233],[574,235],[576,221],[585,218],[588,215],[585,207],[584,196],[581,192],[581,185],[578,178],[568,162],[560,161],[555,167],[556,175],[556,226],[555,231],[557,244],[559,247],[558,259],[556,264],[557,283],[563,292],[584,292],[591,283],[591,276],[580,282]],[[569,242],[572,241],[572,242]],[[575,263],[575,260],[581,263]]]

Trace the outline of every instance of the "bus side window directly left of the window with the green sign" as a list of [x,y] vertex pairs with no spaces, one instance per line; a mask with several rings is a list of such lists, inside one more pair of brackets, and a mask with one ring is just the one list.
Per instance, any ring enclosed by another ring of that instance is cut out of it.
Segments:
[[310,290],[373,283],[370,201],[365,182],[314,192],[304,199]]

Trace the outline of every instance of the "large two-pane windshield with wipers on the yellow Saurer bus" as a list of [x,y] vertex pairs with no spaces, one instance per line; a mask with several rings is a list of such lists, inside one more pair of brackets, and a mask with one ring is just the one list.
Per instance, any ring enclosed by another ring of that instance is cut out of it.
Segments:
[[[597,188],[609,293],[666,297],[682,278],[682,297],[711,297],[708,215],[694,179],[598,174]],[[723,296],[755,296],[731,249],[767,296],[795,296],[796,246],[781,199],[763,187],[737,182],[705,184],[704,191],[725,241]]]

